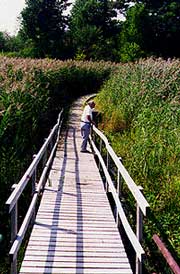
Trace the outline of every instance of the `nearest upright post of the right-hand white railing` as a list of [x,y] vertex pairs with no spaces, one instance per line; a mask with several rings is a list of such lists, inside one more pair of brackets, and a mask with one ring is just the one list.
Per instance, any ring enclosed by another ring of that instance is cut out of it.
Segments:
[[[141,186],[139,186],[139,190],[143,190]],[[136,204],[136,236],[138,241],[141,243],[143,238],[143,213],[138,204]],[[142,274],[142,259],[139,261],[136,256],[136,274]]]

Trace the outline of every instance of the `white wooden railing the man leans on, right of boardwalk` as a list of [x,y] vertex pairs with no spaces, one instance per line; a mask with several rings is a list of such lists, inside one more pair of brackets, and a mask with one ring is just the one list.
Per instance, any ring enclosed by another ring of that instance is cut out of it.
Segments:
[[[98,138],[98,142],[95,141],[96,138]],[[143,256],[145,254],[141,246],[142,235],[143,235],[143,215],[146,216],[147,209],[149,208],[149,204],[141,192],[142,188],[135,184],[135,182],[133,181],[133,179],[127,172],[126,168],[123,166],[120,158],[118,158],[118,156],[115,154],[114,150],[110,146],[106,136],[95,126],[93,126],[91,131],[90,143],[92,145],[92,148],[96,156],[98,157],[99,168],[102,169],[105,175],[106,191],[111,192],[113,200],[115,202],[117,225],[119,226],[119,220],[120,220],[121,224],[124,227],[126,235],[136,252],[136,274],[141,274],[142,261],[143,261]],[[97,148],[97,143],[98,143],[98,148]],[[106,151],[105,161],[102,156],[103,143]],[[116,176],[117,187],[116,188],[114,186],[114,182],[109,172],[110,158],[112,159],[113,163],[115,164],[117,168],[117,176]],[[132,193],[136,201],[136,234],[133,232],[121,204],[122,178],[124,179],[124,182],[126,183],[129,191]]]

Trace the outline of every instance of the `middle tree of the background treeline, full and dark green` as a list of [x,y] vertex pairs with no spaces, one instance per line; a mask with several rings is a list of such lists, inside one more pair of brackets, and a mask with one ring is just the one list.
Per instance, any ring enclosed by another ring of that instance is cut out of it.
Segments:
[[76,54],[86,59],[113,60],[119,31],[112,1],[77,0],[70,16],[70,33]]

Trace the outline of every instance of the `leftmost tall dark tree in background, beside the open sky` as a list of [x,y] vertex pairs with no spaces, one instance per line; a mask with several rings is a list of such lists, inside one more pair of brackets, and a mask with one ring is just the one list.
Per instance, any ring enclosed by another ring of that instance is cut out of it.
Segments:
[[26,0],[21,13],[21,36],[30,39],[37,57],[63,58],[68,0]]

